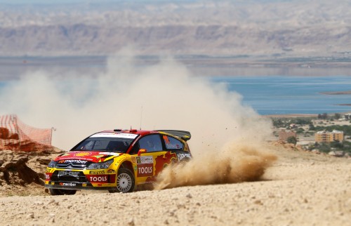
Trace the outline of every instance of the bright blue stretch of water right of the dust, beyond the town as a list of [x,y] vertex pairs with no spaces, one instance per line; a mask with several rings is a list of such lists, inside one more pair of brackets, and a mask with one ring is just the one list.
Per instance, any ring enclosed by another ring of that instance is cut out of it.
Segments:
[[261,115],[323,114],[350,112],[351,95],[325,95],[322,92],[351,91],[351,77],[212,77],[243,96]]

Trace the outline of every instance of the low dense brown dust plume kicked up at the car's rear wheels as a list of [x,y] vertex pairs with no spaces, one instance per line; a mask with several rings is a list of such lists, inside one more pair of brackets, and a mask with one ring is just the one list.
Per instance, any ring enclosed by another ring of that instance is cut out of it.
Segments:
[[224,152],[209,152],[186,163],[164,168],[154,189],[256,181],[276,159],[263,147],[233,145]]

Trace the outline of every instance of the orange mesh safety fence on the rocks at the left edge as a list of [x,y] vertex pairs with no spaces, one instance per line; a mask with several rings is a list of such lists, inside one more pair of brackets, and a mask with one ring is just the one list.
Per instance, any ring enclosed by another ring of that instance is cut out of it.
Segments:
[[32,151],[34,147],[51,146],[53,128],[34,128],[15,114],[0,116],[0,149]]

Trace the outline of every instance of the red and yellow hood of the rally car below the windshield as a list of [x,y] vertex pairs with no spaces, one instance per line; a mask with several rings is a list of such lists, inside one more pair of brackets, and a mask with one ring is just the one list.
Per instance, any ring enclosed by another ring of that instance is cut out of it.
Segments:
[[62,154],[53,161],[60,161],[60,160],[83,160],[83,161],[93,161],[93,162],[102,162],[107,161],[109,159],[113,159],[114,157],[119,157],[123,153],[117,152],[66,152]]

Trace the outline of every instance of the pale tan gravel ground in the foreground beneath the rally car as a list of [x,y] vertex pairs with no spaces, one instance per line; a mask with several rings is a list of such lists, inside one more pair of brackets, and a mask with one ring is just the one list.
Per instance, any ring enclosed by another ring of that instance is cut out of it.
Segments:
[[255,182],[56,197],[39,185],[27,196],[3,190],[0,225],[350,225],[350,158],[272,149],[277,161]]

